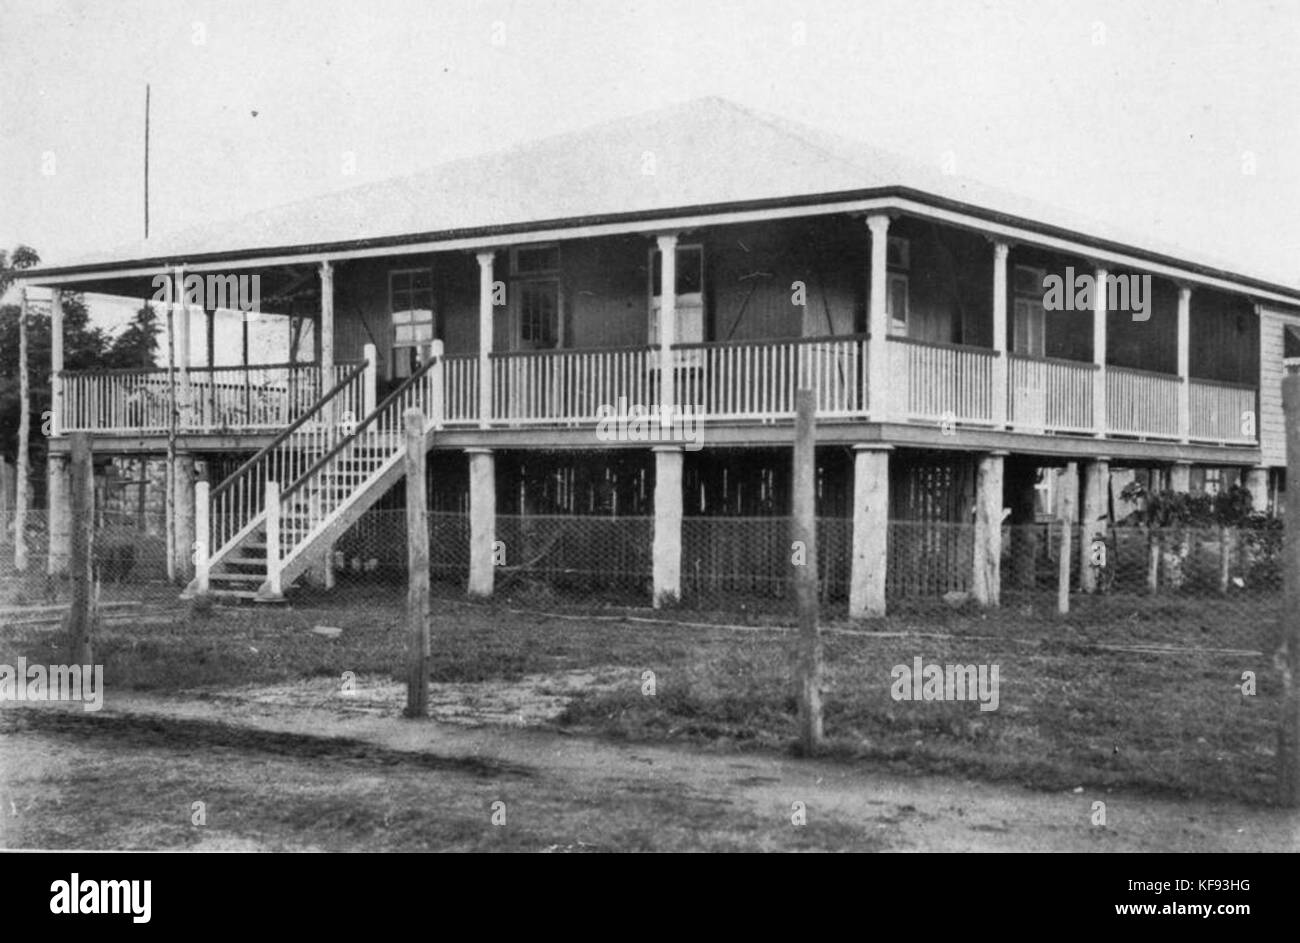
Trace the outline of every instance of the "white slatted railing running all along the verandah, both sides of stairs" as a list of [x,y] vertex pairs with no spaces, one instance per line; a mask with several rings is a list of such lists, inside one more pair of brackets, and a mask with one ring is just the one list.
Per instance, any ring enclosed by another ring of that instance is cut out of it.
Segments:
[[[777,419],[793,415],[794,390],[810,385],[820,415],[870,416],[863,334],[690,343],[673,347],[675,402],[710,419]],[[998,423],[1005,397],[1011,429],[1179,438],[1218,444],[1257,441],[1249,414],[1256,390],[1238,384],[1192,380],[1190,429],[1180,429],[1182,380],[1109,365],[1105,376],[1106,428],[1096,425],[1097,365],[1089,362],[1006,355],[1006,389],[996,351],[890,337],[889,382],[880,416],[971,424]],[[602,407],[654,407],[659,402],[659,351],[651,347],[547,350],[493,354],[489,359],[491,423],[594,423]],[[476,424],[480,418],[477,355],[442,358],[443,420]],[[351,364],[335,368],[335,381]],[[278,431],[320,397],[315,364],[191,368],[177,376],[178,432]],[[64,375],[61,431],[165,433],[168,372],[98,371]]]

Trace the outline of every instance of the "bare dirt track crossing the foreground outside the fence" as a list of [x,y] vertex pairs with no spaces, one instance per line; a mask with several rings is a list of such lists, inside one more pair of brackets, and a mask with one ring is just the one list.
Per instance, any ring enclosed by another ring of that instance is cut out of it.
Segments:
[[[98,713],[8,706],[0,847],[1300,851],[1300,817],[1258,805],[1043,792],[551,724],[577,691],[623,674],[434,684],[428,721],[402,719],[403,689],[364,676],[352,695],[311,679],[173,696],[109,689]],[[1092,821],[1097,801],[1105,826]]]

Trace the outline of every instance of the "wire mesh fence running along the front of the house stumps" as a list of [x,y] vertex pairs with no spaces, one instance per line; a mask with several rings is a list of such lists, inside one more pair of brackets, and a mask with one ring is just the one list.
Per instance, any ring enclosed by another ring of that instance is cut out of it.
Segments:
[[[166,587],[166,541],[157,528],[105,511],[95,529],[101,585]],[[1236,527],[1075,525],[1069,533],[1074,605],[1106,598],[1141,609],[1161,601],[1217,598],[1230,618],[1268,618],[1282,598],[1282,522],[1257,518]],[[436,594],[464,594],[469,516],[429,514],[430,578]],[[1004,606],[1032,602],[1054,610],[1065,550],[1058,522],[1002,528]],[[14,566],[10,532],[0,540],[0,602],[58,597],[47,578],[49,515],[27,514],[27,568]],[[625,606],[651,602],[654,519],[642,516],[520,515],[495,520],[494,596],[547,606]],[[975,527],[967,523],[889,523],[885,600],[890,614],[961,610],[972,598]],[[796,559],[786,516],[688,516],[681,525],[680,602],[685,610],[793,617]],[[827,619],[848,615],[853,522],[818,520],[818,576]],[[372,510],[334,544],[332,591],[320,570],[289,592],[290,601],[389,600],[407,585],[406,511]],[[169,591],[179,592],[179,585]],[[1174,617],[1170,617],[1174,618]],[[1183,617],[1178,617],[1183,618]]]

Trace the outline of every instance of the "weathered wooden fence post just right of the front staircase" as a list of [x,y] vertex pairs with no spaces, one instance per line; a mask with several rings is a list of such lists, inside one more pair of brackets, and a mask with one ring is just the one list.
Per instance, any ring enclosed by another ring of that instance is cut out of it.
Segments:
[[429,714],[429,507],[425,497],[424,414],[407,410],[407,717]]

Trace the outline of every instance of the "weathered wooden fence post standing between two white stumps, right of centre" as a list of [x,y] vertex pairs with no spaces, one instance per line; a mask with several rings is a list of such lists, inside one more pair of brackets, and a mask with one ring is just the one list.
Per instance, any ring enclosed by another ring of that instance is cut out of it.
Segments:
[[[811,756],[822,745],[822,633],[816,598],[816,397],[794,394],[794,480],[790,551],[800,609],[800,658],[796,695],[800,747]],[[802,557],[802,559],[801,559]]]

